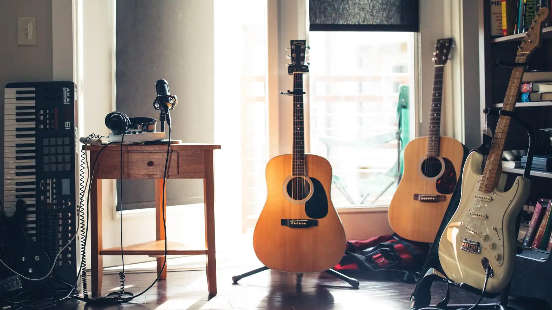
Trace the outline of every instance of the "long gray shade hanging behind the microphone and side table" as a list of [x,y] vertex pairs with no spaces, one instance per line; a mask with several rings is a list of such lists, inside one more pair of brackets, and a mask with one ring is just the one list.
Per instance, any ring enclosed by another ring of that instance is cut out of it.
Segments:
[[[171,111],[172,138],[213,143],[213,27],[213,1],[117,1],[117,110],[158,119],[152,101],[155,82],[164,78],[179,99]],[[123,186],[125,209],[153,206],[152,180]],[[169,180],[167,193],[169,205],[202,202],[203,182]]]

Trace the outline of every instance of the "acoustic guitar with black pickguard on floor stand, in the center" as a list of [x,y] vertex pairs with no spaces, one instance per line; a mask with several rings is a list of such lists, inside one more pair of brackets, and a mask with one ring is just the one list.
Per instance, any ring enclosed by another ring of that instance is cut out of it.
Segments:
[[332,167],[327,159],[305,154],[303,73],[306,40],[291,41],[293,75],[293,152],[267,164],[267,201],[253,233],[257,258],[286,272],[325,271],[343,257],[345,232],[332,205]]

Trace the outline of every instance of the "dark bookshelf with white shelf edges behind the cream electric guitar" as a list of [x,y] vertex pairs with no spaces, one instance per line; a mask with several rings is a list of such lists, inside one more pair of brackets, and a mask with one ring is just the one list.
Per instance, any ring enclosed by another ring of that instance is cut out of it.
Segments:
[[[491,38],[491,1],[480,2],[479,14],[479,57],[480,57],[480,108],[500,109],[505,97],[511,69],[493,66],[497,60],[514,62],[517,47],[525,34],[514,34],[501,38]],[[551,12],[552,13],[552,12]],[[552,26],[543,29],[542,45],[530,57],[529,70],[552,71]],[[539,129],[552,127],[552,101],[516,103],[517,113],[532,125],[537,137],[535,155],[544,154],[544,143],[539,140]],[[490,116],[487,122],[481,116],[481,125],[487,124],[495,130],[496,117]],[[512,123],[505,149],[523,149],[528,144],[527,134],[522,127]],[[514,179],[523,174],[523,168],[503,168],[507,175],[506,189]],[[534,204],[539,198],[551,197],[552,172],[532,170],[530,173],[531,191],[528,202]],[[544,276],[543,276],[544,275]],[[524,249],[516,256],[510,292],[512,295],[539,298],[552,306],[552,259],[549,253]],[[532,282],[534,285],[527,285]]]

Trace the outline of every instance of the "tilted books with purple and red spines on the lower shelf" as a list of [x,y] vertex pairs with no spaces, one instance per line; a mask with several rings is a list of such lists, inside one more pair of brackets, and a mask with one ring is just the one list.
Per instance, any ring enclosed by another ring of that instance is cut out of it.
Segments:
[[552,200],[540,199],[535,206],[535,211],[529,222],[527,233],[523,238],[523,247],[552,250],[552,217],[550,207]]

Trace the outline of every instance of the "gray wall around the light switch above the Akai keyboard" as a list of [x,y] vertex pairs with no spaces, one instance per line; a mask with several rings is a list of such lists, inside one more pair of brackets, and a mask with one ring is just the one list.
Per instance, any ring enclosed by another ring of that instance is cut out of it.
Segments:
[[[17,45],[17,18],[36,18],[36,45]],[[52,80],[52,2],[33,0],[0,1],[0,98],[4,111],[4,87],[10,82]],[[0,118],[1,132],[4,117]],[[2,135],[3,136],[3,135]],[[4,149],[4,139],[0,139]],[[3,163],[3,152],[0,161]],[[4,165],[0,165],[4,175]],[[3,195],[4,189],[0,189]]]

